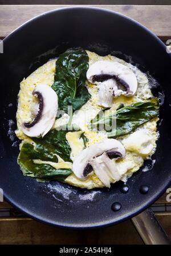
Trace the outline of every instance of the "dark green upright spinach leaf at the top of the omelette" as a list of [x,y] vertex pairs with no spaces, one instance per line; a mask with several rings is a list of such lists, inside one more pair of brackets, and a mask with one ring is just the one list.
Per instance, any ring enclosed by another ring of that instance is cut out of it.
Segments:
[[67,112],[68,106],[78,110],[91,98],[85,86],[88,67],[88,55],[83,49],[71,49],[59,55],[52,89],[58,95],[60,110]]

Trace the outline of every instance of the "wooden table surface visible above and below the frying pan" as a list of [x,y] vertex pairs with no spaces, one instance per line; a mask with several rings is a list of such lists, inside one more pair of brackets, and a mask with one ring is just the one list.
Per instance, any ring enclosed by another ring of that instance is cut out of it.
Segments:
[[[0,38],[36,15],[62,5],[1,5]],[[163,41],[171,38],[171,6],[101,5],[108,10],[119,11],[143,23]],[[153,205],[157,218],[171,238],[171,203],[166,193]],[[171,197],[170,197],[171,198]],[[157,211],[156,211],[157,210]],[[169,211],[170,210],[170,211]],[[9,203],[0,202],[0,244],[137,244],[143,243],[132,222],[96,230],[66,230],[36,222],[15,210]]]

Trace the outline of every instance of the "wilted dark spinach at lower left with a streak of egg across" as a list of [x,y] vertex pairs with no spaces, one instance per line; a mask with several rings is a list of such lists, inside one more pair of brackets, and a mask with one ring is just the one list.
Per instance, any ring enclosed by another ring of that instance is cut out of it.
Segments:
[[70,161],[71,148],[66,140],[67,132],[51,130],[43,139],[33,138],[36,144],[23,142],[18,156],[23,174],[44,181],[66,179],[72,173],[71,169],[55,169],[48,164],[34,163],[33,159],[58,162],[58,154],[64,161]]

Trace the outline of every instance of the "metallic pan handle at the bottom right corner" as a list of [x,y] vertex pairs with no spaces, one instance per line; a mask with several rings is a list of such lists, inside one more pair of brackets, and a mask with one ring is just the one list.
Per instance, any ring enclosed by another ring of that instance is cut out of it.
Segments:
[[146,245],[171,245],[168,235],[150,208],[133,217],[132,222]]

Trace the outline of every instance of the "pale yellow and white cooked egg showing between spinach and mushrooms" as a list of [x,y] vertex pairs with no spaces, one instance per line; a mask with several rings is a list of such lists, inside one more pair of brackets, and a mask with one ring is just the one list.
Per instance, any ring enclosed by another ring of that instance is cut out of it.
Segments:
[[[125,66],[128,66],[133,70],[137,77],[138,87],[137,92],[133,97],[124,97],[121,95],[120,97],[113,98],[112,109],[115,110],[120,106],[121,103],[124,105],[129,105],[131,103],[143,101],[150,97],[153,97],[152,92],[150,90],[148,78],[144,73],[142,73],[137,67],[131,65],[131,63],[127,63],[122,59],[117,57],[107,55],[105,57],[101,57],[96,53],[92,53],[87,51],[89,57],[89,65],[95,63],[96,61],[115,61],[122,63]],[[32,102],[32,91],[34,87],[39,83],[46,83],[46,85],[51,86],[54,82],[54,73],[55,73],[55,62],[56,59],[52,59],[45,63],[43,66],[39,67],[35,70],[29,77],[24,78],[21,82],[21,90],[18,95],[18,110],[17,110],[17,126],[18,129],[15,131],[17,137],[19,139],[25,139],[26,141],[31,141],[25,134],[22,132],[22,123],[30,122],[31,111],[34,104],[30,104]],[[92,85],[87,82],[87,87],[89,93],[92,95],[91,99],[82,106],[82,108],[78,111],[75,111],[72,123],[78,125],[83,131],[86,137],[88,138],[88,142],[86,146],[90,146],[93,143],[103,141],[107,138],[107,134],[105,131],[89,131],[88,123],[93,119],[99,110],[100,106],[97,106],[97,86]],[[37,102],[34,102],[35,105]],[[54,127],[59,127],[68,122],[68,115],[64,114],[63,117],[56,119]],[[122,181],[127,181],[128,177],[131,177],[135,171],[139,170],[141,166],[143,166],[144,160],[148,159],[156,150],[156,141],[158,138],[157,133],[157,121],[158,118],[154,118],[149,122],[146,122],[144,125],[140,126],[134,133],[124,135],[123,137],[119,137],[119,141],[123,143],[126,149],[126,156],[124,159],[114,160],[116,161],[117,169],[121,175]],[[75,131],[68,132],[66,135],[67,141],[71,147],[71,159],[72,161],[84,149],[83,140],[80,139],[80,135],[83,131]],[[52,165],[56,169],[59,168],[71,168],[72,163],[64,162],[63,159],[59,158],[58,163],[53,162],[44,162],[39,159],[35,160],[35,163],[48,163]],[[85,181],[80,181],[74,174],[68,176],[65,180],[66,183],[82,188],[93,189],[95,187],[104,187],[103,183],[99,178],[96,177],[94,173],[88,175]]]

